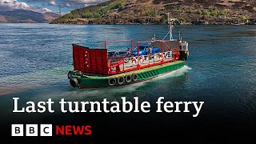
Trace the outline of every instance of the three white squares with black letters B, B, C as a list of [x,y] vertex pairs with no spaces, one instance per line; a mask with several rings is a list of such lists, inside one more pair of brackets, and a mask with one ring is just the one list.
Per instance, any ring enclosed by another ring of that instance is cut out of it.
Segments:
[[[38,134],[38,128],[40,134]],[[52,136],[53,126],[51,124],[12,124],[11,125],[11,136]]]

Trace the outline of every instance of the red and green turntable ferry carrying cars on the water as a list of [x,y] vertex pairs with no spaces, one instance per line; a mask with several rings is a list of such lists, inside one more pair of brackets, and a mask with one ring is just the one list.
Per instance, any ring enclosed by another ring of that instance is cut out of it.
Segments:
[[[170,19],[170,18],[168,18]],[[73,66],[67,77],[78,88],[124,86],[178,70],[189,56],[188,42],[173,39],[171,22],[169,40],[146,42],[133,40],[105,41],[98,48],[73,44]],[[129,42],[127,50],[109,50],[110,42]],[[108,51],[109,50],[109,51]]]

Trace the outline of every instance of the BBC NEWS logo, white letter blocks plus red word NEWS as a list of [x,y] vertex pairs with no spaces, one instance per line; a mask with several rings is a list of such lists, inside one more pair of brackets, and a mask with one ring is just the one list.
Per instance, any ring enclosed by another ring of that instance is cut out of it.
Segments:
[[[91,126],[52,126],[51,124],[12,124],[11,136],[53,136],[55,135],[90,135]],[[38,133],[39,132],[39,133]]]

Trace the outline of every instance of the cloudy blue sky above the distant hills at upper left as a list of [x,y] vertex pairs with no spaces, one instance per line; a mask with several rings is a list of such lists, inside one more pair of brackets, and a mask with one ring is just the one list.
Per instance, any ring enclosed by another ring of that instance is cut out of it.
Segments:
[[66,14],[70,10],[106,1],[108,0],[0,0],[0,11],[23,9],[39,13],[59,13],[61,7],[62,14]]

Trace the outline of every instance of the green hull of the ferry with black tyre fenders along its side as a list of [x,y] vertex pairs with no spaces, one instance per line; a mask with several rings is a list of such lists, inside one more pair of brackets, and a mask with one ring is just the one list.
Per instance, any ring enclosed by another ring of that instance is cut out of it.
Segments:
[[146,81],[150,78],[155,78],[159,75],[170,73],[171,71],[182,68],[184,65],[185,61],[175,61],[110,76],[97,76],[92,74],[85,75],[76,71],[72,71],[68,74],[68,77],[70,78],[71,86],[78,88],[122,86]]

